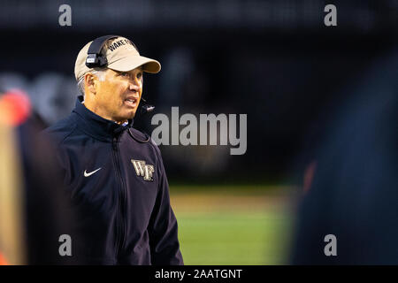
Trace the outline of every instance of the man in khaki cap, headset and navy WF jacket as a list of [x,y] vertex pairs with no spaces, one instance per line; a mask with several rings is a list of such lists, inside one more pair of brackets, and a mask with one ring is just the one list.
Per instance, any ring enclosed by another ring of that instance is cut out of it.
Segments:
[[183,264],[160,151],[132,127],[142,73],[158,73],[160,64],[117,36],[103,41],[96,55],[103,66],[92,68],[91,44],[74,69],[84,96],[45,131],[57,142],[79,218],[72,256],[86,264]]

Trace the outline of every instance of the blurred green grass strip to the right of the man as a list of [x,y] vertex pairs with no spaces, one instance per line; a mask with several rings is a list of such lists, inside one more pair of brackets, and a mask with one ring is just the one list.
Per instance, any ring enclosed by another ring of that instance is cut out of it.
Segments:
[[185,264],[286,264],[286,193],[248,187],[179,187],[172,207]]

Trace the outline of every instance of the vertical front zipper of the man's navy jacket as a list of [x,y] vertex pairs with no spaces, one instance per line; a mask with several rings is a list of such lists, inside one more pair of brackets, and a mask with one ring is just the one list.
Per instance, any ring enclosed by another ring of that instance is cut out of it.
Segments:
[[120,171],[120,163],[119,163],[119,149],[118,149],[118,142],[119,142],[119,137],[116,137],[112,141],[112,152],[113,152],[113,157],[114,157],[114,166],[115,166],[115,172],[116,172],[116,178],[119,182],[119,198],[118,198],[118,203],[119,203],[119,217],[117,216],[117,223],[118,223],[118,229],[117,229],[117,235],[116,235],[116,259],[119,261],[119,255],[121,253],[121,249],[123,247],[124,241],[125,241],[125,221],[124,221],[124,215],[125,215],[125,208],[124,208],[124,201],[126,198],[126,192],[125,192],[125,187],[124,187],[124,182],[121,177],[121,171]]

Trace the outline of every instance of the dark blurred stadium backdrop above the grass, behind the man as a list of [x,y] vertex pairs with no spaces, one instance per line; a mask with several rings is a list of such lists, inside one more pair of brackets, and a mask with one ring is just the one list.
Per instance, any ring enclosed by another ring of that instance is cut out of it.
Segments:
[[[61,4],[72,27],[60,27]],[[325,27],[325,4],[337,27]],[[172,180],[278,182],[310,156],[329,113],[394,50],[398,1],[2,1],[0,88],[23,88],[49,125],[77,95],[74,61],[87,42],[121,34],[162,64],[143,96],[169,113],[248,114],[248,149],[162,146]],[[151,131],[150,116],[135,126]],[[305,159],[306,157],[304,157]],[[301,158],[302,160],[302,158]],[[193,179],[194,178],[194,179]]]

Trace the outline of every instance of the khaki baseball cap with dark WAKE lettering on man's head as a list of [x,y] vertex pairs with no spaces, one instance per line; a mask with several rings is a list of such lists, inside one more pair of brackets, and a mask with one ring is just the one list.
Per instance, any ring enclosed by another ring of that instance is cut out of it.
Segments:
[[[86,65],[87,52],[91,42],[88,42],[79,52],[74,65],[74,76],[76,80],[80,80],[93,68]],[[111,38],[103,44],[101,54],[108,60],[107,68],[128,72],[142,65],[143,71],[147,73],[158,73],[160,71],[160,63],[157,60],[143,57],[138,50],[135,49],[133,43],[126,37]],[[97,68],[96,68],[97,69]]]

